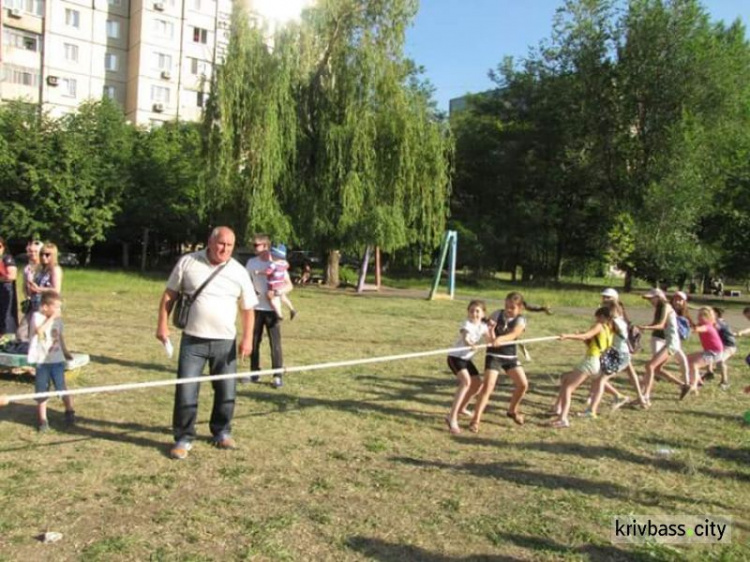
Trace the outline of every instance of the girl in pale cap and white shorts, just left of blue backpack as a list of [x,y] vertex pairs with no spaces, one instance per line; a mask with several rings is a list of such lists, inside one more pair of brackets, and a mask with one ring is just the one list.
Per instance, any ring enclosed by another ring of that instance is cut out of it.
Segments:
[[[651,351],[653,355],[646,363],[646,376],[643,381],[643,397],[646,403],[650,404],[656,373],[681,386],[683,384],[690,385],[691,381],[687,357],[685,352],[682,351],[682,343],[677,332],[677,313],[672,305],[667,302],[667,296],[661,289],[651,289],[643,295],[643,298],[650,300],[654,307],[653,322],[645,326],[639,326],[641,330],[651,330],[652,332]],[[683,371],[684,383],[662,369],[671,358],[675,358],[679,363]]]

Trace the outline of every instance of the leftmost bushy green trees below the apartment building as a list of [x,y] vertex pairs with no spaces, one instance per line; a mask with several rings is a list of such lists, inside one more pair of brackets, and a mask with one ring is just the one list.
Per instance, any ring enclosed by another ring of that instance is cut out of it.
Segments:
[[128,190],[132,134],[112,102],[51,119],[30,105],[0,108],[0,217],[8,237],[43,236],[87,250],[105,239]]

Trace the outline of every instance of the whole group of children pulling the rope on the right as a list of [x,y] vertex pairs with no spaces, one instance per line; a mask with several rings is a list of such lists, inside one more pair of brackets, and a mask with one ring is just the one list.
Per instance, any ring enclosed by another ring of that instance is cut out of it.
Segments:
[[[595,418],[605,393],[614,397],[614,408],[632,404],[642,408],[651,406],[651,394],[656,377],[661,377],[679,385],[680,399],[697,393],[703,380],[713,376],[713,369],[720,373],[720,388],[729,388],[727,371],[728,360],[737,352],[736,336],[750,334],[750,328],[732,332],[722,319],[723,311],[718,308],[700,307],[697,322],[690,317],[687,295],[677,291],[672,299],[667,299],[661,289],[651,289],[643,298],[654,308],[654,318],[650,324],[634,327],[628,318],[625,307],[614,289],[601,293],[601,306],[594,313],[591,327],[578,334],[561,334],[560,340],[582,341],[586,345],[583,360],[560,378],[560,390],[550,411],[554,419],[548,424],[552,428],[570,427],[572,395],[586,380],[591,379],[591,390],[584,417]],[[459,434],[459,417],[471,418],[469,431],[479,431],[482,415],[490,395],[497,383],[500,371],[504,371],[513,381],[514,390],[506,415],[518,425],[524,424],[519,411],[521,400],[528,390],[528,379],[518,357],[519,346],[516,340],[526,329],[523,316],[525,302],[518,292],[511,292],[505,298],[505,305],[486,316],[486,306],[481,300],[473,300],[468,306],[468,317],[459,329],[459,337],[448,354],[448,367],[456,376],[457,389],[445,421],[451,434]],[[750,320],[750,307],[743,311]],[[632,363],[632,354],[637,351],[637,338],[634,334],[651,332],[651,358],[647,361],[642,378],[638,377]],[[690,333],[700,339],[701,351],[686,354],[682,341]],[[485,369],[480,375],[472,359],[482,340],[487,343]],[[467,349],[468,348],[468,349]],[[748,356],[750,359],[750,356]],[[680,366],[682,378],[677,378],[663,369],[669,361]],[[704,376],[701,370],[708,369]],[[619,373],[627,372],[637,397],[629,400],[612,384]],[[746,389],[750,392],[750,387]],[[476,398],[473,411],[469,403]]]

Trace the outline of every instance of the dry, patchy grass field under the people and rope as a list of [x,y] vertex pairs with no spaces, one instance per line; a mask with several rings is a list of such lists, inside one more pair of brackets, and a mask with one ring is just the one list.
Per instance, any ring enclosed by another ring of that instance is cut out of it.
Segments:
[[[154,338],[164,279],[81,270],[65,283],[69,347],[92,357],[71,387],[174,377],[176,361]],[[492,309],[507,290],[477,293]],[[471,289],[454,301],[417,296],[295,291],[287,364],[449,347]],[[529,337],[583,330],[599,302],[595,288],[527,299],[557,308],[530,316]],[[645,301],[628,303],[649,314]],[[729,320],[745,327],[739,308]],[[183,462],[167,455],[171,387],[79,397],[71,429],[53,400],[53,430],[42,435],[34,405],[11,404],[0,409],[0,560],[748,560],[749,348],[740,342],[728,392],[712,383],[678,402],[676,387],[659,383],[648,411],[604,407],[557,431],[542,426],[544,412],[583,354],[574,342],[530,347],[526,426],[503,415],[503,378],[477,435],[446,431],[454,381],[443,356],[289,375],[278,390],[241,385],[236,451],[208,442],[204,385],[202,438]],[[0,379],[0,393],[32,390],[31,377]],[[626,514],[731,516],[732,539],[613,545],[612,517]],[[46,531],[63,538],[43,544]]]

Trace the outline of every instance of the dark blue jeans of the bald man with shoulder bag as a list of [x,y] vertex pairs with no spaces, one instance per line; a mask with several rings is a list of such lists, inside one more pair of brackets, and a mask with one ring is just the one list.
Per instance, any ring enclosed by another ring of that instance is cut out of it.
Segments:
[[[237,345],[235,340],[210,340],[182,334],[177,378],[189,379],[203,374],[208,362],[211,375],[237,372]],[[232,431],[234,401],[237,395],[237,380],[212,381],[214,406],[211,410],[209,428],[214,439],[228,437]],[[175,387],[172,427],[174,439],[195,439],[195,420],[198,417],[198,393],[200,383],[178,384]]]

